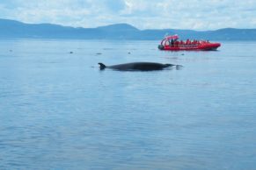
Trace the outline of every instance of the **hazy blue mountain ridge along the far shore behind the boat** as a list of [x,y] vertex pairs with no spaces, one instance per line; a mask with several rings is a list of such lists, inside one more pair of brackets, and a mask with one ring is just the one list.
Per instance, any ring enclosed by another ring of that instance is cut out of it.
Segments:
[[96,28],[72,27],[55,24],[26,24],[0,18],[0,38],[40,39],[162,39],[166,32],[181,39],[256,40],[256,29],[222,28],[211,31],[181,29],[139,30],[126,23]]

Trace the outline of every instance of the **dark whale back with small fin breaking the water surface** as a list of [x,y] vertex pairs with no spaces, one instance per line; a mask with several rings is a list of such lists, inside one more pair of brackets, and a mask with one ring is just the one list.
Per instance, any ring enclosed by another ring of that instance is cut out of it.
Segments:
[[99,69],[104,70],[105,68],[111,68],[118,71],[154,71],[154,70],[163,70],[167,67],[176,68],[181,67],[180,65],[174,64],[161,64],[157,62],[130,62],[124,64],[118,64],[113,66],[106,66],[105,64],[99,62]]

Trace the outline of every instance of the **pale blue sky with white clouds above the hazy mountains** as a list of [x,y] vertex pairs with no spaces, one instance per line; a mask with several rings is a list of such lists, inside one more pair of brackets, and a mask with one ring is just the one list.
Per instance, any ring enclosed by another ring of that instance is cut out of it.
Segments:
[[0,18],[85,28],[256,28],[256,0],[0,0]]

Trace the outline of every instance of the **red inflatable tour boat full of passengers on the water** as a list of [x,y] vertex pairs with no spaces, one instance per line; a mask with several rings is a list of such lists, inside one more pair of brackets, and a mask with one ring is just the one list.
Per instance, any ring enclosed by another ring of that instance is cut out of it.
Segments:
[[210,43],[208,40],[178,40],[178,35],[166,36],[158,46],[160,50],[216,50],[220,43]]

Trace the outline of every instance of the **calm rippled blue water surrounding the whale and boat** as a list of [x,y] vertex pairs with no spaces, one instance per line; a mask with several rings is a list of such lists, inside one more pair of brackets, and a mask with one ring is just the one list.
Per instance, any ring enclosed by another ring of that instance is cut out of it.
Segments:
[[[0,169],[255,169],[256,42],[157,44],[1,39]],[[184,67],[99,71],[99,61]]]

